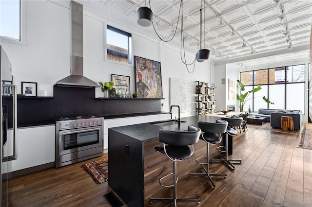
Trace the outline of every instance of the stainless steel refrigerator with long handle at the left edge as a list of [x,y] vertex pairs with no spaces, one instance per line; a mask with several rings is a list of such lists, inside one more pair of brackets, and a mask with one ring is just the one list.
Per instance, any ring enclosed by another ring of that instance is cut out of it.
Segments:
[[12,85],[12,64],[0,45],[1,165],[0,207],[11,204],[12,160],[17,159],[17,86]]

